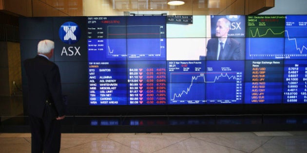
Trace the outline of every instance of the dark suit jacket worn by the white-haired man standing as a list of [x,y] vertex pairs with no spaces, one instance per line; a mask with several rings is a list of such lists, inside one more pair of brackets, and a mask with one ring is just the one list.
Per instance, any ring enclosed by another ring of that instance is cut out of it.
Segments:
[[41,118],[45,101],[49,98],[55,103],[58,115],[65,115],[58,66],[40,55],[25,60],[23,64],[29,85],[28,113]]

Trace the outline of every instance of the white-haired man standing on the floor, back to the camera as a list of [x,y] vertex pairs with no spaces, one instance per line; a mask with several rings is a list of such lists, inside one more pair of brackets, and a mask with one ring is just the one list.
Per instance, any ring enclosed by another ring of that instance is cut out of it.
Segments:
[[[32,153],[58,153],[60,150],[60,120],[65,118],[58,66],[49,61],[54,42],[41,40],[38,55],[23,62],[29,85],[28,113],[31,127]],[[45,102],[54,103],[58,117],[50,119]]]

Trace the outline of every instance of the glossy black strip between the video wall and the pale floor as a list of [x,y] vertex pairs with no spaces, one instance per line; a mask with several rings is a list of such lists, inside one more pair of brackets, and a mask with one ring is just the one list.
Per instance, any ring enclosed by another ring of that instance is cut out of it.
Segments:
[[[7,118],[7,119],[6,119]],[[29,133],[27,116],[1,117],[0,132]],[[307,115],[67,116],[64,133],[304,131]]]

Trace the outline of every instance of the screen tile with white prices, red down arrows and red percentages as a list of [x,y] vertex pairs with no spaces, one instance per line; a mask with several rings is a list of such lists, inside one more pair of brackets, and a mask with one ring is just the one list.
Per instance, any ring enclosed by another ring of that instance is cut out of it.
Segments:
[[166,104],[166,63],[128,62],[129,104]]

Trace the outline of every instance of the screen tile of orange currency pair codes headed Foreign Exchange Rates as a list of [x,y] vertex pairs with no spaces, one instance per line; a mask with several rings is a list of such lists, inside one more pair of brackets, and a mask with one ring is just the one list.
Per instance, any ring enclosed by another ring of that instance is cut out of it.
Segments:
[[283,61],[247,61],[245,103],[281,103]]

